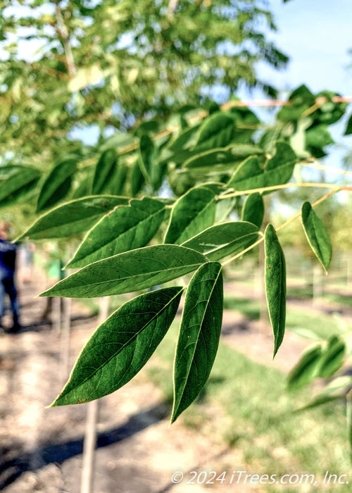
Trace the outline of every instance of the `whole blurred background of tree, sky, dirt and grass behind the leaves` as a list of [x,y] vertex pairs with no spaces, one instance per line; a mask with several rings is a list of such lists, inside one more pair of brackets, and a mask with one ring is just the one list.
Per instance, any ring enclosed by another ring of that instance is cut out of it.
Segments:
[[[11,224],[10,239],[37,217],[37,189],[34,183],[29,194],[20,190],[10,200],[1,189],[6,166],[46,172],[63,154],[95,163],[104,149],[132,144],[144,121],[156,132],[182,125],[182,118],[199,108],[208,111],[234,99],[287,99],[301,85],[314,94],[352,94],[347,0],[4,0],[0,6],[0,220]],[[268,125],[279,110],[249,108]],[[341,171],[352,161],[351,137],[342,137],[347,120],[331,127],[319,156],[320,163]],[[82,170],[63,199],[84,196]],[[322,169],[308,170],[304,178],[338,181]],[[175,185],[165,180],[159,193],[173,192]],[[303,201],[320,195],[312,189],[279,192],[268,204],[271,222],[281,224]],[[313,474],[320,489],[349,492],[348,484],[322,484],[326,471],[351,472],[344,402],[294,413],[326,382],[288,392],[287,375],[311,344],[352,330],[351,204],[351,196],[339,194],[318,208],[333,244],[328,276],[299,222],[280,232],[287,258],[287,332],[274,361],[260,251],[227,266],[222,338],[210,380],[196,404],[169,428],[177,314],[146,367],[101,399],[94,482],[86,489],[87,404],[44,406],[60,392],[101,313],[111,313],[130,295],[111,297],[109,306],[100,299],[35,298],[63,277],[80,236],[21,242],[16,274],[21,327],[8,330],[6,307],[0,335],[0,489],[309,492],[316,487],[228,484],[233,471],[246,470],[277,477]],[[344,372],[349,370],[346,358]],[[185,479],[173,484],[177,471]],[[225,472],[227,479],[187,484],[191,471],[206,471],[203,479],[211,471]]]

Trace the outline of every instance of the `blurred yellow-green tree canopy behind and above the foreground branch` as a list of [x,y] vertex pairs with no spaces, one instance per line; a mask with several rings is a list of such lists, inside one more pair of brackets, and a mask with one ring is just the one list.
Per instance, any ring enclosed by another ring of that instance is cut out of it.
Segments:
[[[0,1],[1,154],[44,164],[182,105],[222,101],[241,85],[275,88],[256,64],[288,58],[265,0]],[[3,158],[4,159],[4,158]]]

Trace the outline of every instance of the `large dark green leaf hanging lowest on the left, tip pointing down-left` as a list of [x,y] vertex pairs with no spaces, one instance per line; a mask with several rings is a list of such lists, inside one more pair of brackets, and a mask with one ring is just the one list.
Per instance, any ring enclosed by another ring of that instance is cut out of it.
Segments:
[[182,287],[158,289],[120,306],[89,339],[51,406],[99,399],[129,382],[168,332],[182,291]]

